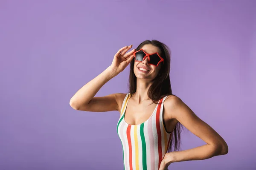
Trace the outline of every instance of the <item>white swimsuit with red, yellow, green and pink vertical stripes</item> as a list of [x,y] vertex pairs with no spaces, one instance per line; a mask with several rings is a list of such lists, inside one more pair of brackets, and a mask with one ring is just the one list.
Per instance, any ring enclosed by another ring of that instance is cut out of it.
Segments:
[[130,93],[126,94],[116,127],[122,142],[124,170],[158,170],[172,137],[163,124],[163,103],[156,106],[148,120],[130,125],[124,119],[130,97]]

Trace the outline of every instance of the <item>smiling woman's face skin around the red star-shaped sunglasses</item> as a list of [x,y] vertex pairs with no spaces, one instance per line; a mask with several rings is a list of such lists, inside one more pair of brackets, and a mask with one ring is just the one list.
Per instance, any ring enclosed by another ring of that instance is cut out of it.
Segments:
[[[151,44],[143,45],[142,49],[148,54],[152,54],[155,52],[160,54],[160,49]],[[142,62],[138,62],[138,61],[134,62],[134,74],[139,79],[154,79],[155,77],[157,77],[157,74],[160,70],[161,65],[162,63],[160,63],[158,66],[149,65],[148,57],[146,57]],[[140,70],[141,67],[146,68],[148,71],[141,71]]]

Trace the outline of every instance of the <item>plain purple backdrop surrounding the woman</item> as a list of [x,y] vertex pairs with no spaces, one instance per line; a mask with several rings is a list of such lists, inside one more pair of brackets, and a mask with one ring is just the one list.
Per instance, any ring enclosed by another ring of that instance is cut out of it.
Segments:
[[[0,169],[123,169],[119,112],[69,102],[119,48],[147,39],[171,48],[173,93],[229,146],[169,170],[256,169],[255,8],[255,0],[1,0]],[[127,93],[128,72],[96,96]],[[183,131],[181,150],[203,144]]]

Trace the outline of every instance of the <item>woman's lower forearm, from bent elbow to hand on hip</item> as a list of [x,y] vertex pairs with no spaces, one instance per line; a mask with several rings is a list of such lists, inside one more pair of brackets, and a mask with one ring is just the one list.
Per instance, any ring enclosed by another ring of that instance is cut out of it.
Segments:
[[171,152],[170,156],[166,157],[166,160],[169,163],[180,161],[203,160],[222,154],[224,153],[222,153],[221,147],[212,144],[205,144],[203,146],[195,147],[188,150]]

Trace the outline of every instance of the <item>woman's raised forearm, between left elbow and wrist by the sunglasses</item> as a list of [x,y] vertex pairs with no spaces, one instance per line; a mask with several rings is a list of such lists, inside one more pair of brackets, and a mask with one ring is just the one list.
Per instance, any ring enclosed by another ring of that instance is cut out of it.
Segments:
[[106,68],[101,74],[85,84],[74,94],[70,99],[70,105],[73,105],[74,108],[79,108],[80,105],[89,103],[99,89],[116,75],[117,73],[113,69],[110,67]]

